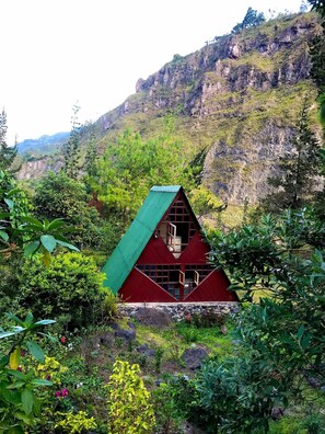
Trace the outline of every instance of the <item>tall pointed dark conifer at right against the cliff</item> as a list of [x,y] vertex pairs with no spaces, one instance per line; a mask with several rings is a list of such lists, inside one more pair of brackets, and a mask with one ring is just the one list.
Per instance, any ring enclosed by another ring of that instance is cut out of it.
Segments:
[[316,194],[317,176],[322,173],[321,147],[310,127],[307,111],[304,100],[290,149],[279,158],[280,175],[268,179],[276,190],[263,201],[266,209],[297,209],[311,202]]

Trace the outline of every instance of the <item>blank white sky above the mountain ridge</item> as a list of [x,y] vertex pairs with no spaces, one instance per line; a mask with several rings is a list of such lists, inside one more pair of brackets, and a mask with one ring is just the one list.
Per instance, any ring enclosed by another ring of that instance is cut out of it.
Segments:
[[248,7],[299,11],[301,0],[0,0],[0,110],[7,141],[95,121],[174,54],[229,33]]

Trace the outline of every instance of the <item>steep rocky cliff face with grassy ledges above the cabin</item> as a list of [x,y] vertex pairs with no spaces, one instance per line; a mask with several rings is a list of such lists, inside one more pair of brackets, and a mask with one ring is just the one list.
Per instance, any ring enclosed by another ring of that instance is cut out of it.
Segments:
[[144,136],[166,111],[193,151],[206,149],[204,182],[233,204],[255,203],[291,146],[304,95],[313,101],[309,41],[313,14],[269,21],[186,57],[174,56],[137,82],[137,93],[98,119],[104,134],[132,122]]

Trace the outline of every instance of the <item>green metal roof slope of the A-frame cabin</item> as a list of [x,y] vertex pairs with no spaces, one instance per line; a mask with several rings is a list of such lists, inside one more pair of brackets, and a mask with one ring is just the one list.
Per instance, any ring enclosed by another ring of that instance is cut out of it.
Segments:
[[153,186],[143,205],[103,266],[104,286],[117,294],[134,269],[156,225],[173,203],[181,185]]

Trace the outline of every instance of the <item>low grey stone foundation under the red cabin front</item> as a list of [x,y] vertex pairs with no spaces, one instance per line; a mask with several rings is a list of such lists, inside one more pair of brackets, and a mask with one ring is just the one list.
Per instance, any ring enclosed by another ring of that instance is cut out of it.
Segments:
[[118,311],[126,317],[136,317],[139,309],[156,309],[167,312],[174,321],[182,321],[187,313],[204,313],[213,311],[219,315],[237,313],[240,304],[236,301],[202,301],[202,302],[120,302]]

